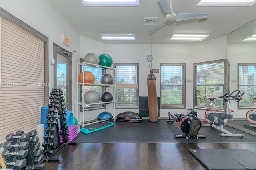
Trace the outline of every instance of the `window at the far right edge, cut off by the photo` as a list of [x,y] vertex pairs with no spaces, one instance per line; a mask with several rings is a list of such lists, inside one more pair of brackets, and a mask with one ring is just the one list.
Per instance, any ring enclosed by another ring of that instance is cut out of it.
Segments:
[[256,108],[256,63],[238,63],[238,90],[243,100],[238,102],[238,108],[255,109]]

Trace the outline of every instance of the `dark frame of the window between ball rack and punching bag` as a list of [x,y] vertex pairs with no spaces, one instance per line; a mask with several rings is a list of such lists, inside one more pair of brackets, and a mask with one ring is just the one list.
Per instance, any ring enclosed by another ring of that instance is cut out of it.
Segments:
[[[116,66],[137,66],[137,84],[123,84],[122,85],[118,84],[116,81],[116,72],[118,69],[116,69]],[[115,108],[116,109],[127,109],[127,108],[133,108],[133,109],[138,109],[139,108],[139,63],[114,63],[114,68],[116,69],[116,71],[114,72],[114,81],[116,82],[116,89],[115,89]],[[120,88],[137,88],[137,106],[119,106],[117,105],[118,102],[116,100],[117,98],[117,92],[116,90],[118,89],[118,87],[121,86]]]

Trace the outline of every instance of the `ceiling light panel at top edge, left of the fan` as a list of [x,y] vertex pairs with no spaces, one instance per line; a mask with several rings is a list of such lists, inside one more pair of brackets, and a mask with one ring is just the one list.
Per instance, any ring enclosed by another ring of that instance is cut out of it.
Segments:
[[139,0],[82,0],[84,6],[139,6]]

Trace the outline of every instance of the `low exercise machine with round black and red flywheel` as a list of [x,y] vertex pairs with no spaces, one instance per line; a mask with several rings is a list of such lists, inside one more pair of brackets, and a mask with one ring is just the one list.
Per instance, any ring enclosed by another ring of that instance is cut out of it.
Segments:
[[171,119],[174,118],[176,122],[180,123],[180,130],[185,135],[174,135],[174,138],[188,138],[193,137],[198,140],[198,138],[206,138],[204,135],[198,135],[198,131],[202,127],[202,122],[197,117],[197,111],[190,108],[188,109],[190,112],[188,114],[178,114],[178,113],[170,113],[168,112],[169,120],[167,122],[173,122],[174,120]]

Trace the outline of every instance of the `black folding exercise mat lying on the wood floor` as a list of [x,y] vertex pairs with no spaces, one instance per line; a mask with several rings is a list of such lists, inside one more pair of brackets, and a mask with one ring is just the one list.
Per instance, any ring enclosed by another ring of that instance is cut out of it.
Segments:
[[208,170],[254,170],[256,154],[247,149],[189,149]]

